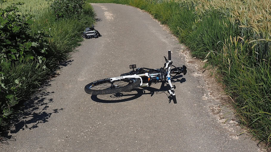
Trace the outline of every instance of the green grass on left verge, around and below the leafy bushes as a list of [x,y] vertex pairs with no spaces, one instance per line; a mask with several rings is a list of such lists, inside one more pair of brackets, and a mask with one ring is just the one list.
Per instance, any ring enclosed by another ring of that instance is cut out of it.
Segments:
[[[15,94],[19,103],[12,107],[14,109],[13,115],[10,115],[8,119],[0,117],[1,129],[8,129],[10,118],[15,117],[14,114],[23,106],[22,103],[28,100],[29,97],[38,90],[44,83],[44,80],[48,79],[52,72],[58,69],[62,61],[69,58],[69,52],[74,51],[74,48],[79,46],[79,42],[83,40],[82,31],[95,23],[95,13],[90,4],[86,4],[83,7],[83,15],[57,19],[44,1],[31,0],[31,2],[25,2],[25,9],[23,9],[21,13],[31,13],[34,15],[33,18],[35,22],[31,25],[31,30],[37,32],[42,29],[50,29],[47,32],[47,34],[50,35],[50,37],[47,38],[49,50],[47,51],[46,62],[41,64],[32,60],[11,65],[1,64],[0,71],[5,73],[7,77],[5,79],[7,83],[5,84],[16,86],[16,84],[14,84],[15,80],[22,80],[21,87],[19,87]],[[38,4],[44,4],[44,8]],[[29,10],[37,11],[29,12]],[[43,67],[44,65],[46,66],[45,69]]]

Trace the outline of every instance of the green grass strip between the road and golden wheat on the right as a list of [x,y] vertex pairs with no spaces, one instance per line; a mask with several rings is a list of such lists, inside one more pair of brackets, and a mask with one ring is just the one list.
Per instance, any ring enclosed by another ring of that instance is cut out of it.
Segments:
[[[129,4],[148,11],[189,46],[193,56],[218,67],[225,91],[244,127],[254,137],[271,146],[271,46],[266,40],[255,41],[253,30],[232,24],[219,10],[195,14],[190,1],[126,0],[99,1]],[[238,38],[241,36],[243,38]],[[259,37],[259,39],[265,39]]]

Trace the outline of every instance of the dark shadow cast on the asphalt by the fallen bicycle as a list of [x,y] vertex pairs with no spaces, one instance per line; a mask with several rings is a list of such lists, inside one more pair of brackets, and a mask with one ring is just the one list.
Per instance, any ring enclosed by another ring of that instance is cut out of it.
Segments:
[[[183,83],[186,81],[185,78],[178,79],[180,77],[182,76],[179,75],[178,77],[173,77],[172,83],[173,84],[178,83],[178,82]],[[132,89],[129,92],[120,92],[120,93],[115,93],[115,94],[104,94],[104,95],[91,95],[91,99],[99,103],[120,103],[120,102],[134,100],[141,97],[142,95],[147,95],[147,94],[150,94],[150,96],[152,97],[154,94],[165,93],[169,97],[169,93],[167,91],[168,91],[167,86],[165,85],[165,83],[162,82],[160,89],[156,89],[150,86],[140,87],[140,88]],[[170,103],[170,100],[169,100],[169,103]]]

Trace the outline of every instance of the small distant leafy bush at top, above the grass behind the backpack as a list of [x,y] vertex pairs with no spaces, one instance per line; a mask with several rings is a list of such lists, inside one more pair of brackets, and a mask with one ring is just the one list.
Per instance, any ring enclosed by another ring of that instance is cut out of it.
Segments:
[[50,7],[57,18],[69,17],[71,15],[81,15],[85,0],[53,0]]

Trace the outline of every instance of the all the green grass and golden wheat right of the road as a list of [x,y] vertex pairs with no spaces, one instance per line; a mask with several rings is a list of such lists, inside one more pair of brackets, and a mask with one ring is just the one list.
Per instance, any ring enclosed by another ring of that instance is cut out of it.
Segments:
[[124,3],[168,24],[193,56],[217,66],[240,122],[254,137],[271,146],[270,0]]

